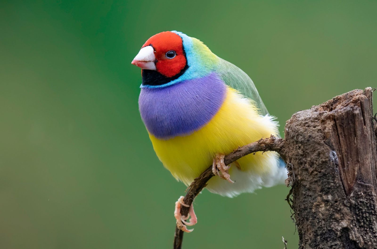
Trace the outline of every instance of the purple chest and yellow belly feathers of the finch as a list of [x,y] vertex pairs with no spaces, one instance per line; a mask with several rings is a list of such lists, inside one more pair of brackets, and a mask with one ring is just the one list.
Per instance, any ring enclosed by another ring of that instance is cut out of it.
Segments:
[[[207,169],[215,153],[228,154],[277,134],[277,122],[260,115],[252,100],[216,73],[164,89],[142,89],[139,108],[158,158],[185,184]],[[241,170],[263,175],[275,166],[275,158],[274,152],[256,153],[238,163]]]

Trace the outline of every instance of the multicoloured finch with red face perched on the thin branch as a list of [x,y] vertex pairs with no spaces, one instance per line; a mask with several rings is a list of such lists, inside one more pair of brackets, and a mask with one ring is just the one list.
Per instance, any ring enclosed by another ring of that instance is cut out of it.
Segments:
[[[244,52],[247,53],[247,52]],[[153,35],[131,62],[141,68],[139,112],[153,149],[164,167],[185,185],[212,165],[215,176],[207,190],[234,197],[261,187],[283,184],[284,161],[276,152],[256,152],[230,165],[224,156],[270,135],[279,136],[278,122],[262,102],[251,78],[219,58],[199,39],[176,30]],[[197,223],[193,206],[180,214],[179,229]]]

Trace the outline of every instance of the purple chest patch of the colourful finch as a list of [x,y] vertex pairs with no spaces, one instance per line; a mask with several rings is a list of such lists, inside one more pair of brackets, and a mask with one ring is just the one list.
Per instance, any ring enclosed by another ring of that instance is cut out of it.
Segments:
[[139,110],[147,130],[160,139],[202,128],[224,102],[227,87],[216,73],[164,88],[142,88]]

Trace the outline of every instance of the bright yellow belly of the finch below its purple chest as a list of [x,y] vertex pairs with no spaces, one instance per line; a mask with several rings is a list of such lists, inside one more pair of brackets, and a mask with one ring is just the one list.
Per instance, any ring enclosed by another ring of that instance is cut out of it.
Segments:
[[[207,125],[190,135],[159,140],[149,134],[153,148],[162,164],[172,175],[190,184],[209,165],[215,153],[227,155],[238,146],[252,143],[262,137],[277,134],[277,123],[270,117],[260,116],[250,99],[245,99],[228,88],[227,96],[218,113]],[[257,152],[238,159],[243,171],[263,175],[271,170],[275,152]]]

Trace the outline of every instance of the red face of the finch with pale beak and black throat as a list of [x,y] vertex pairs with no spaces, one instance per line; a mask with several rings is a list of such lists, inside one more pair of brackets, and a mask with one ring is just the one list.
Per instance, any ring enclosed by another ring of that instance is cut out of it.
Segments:
[[[144,43],[131,63],[143,69],[143,81],[144,76],[148,77],[149,74],[158,77],[160,81],[161,77],[169,78],[169,81],[172,80],[171,78],[181,75],[187,68],[181,36],[170,31],[153,35]],[[150,70],[155,71],[151,72]]]

